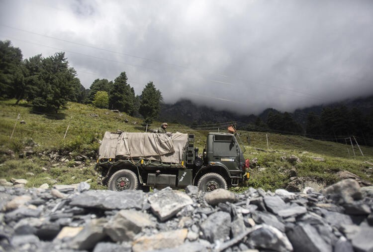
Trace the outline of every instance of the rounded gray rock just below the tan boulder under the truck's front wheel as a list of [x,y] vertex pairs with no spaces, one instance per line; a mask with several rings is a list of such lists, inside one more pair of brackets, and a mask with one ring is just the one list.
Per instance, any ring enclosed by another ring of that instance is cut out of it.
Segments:
[[229,239],[231,231],[231,216],[226,212],[216,212],[208,216],[200,225],[203,237],[210,243]]

